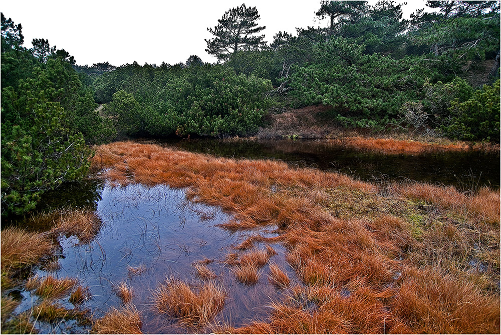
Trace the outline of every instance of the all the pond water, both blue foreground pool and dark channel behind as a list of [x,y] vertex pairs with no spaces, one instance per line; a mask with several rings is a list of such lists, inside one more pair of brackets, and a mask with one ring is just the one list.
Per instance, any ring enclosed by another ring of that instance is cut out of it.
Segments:
[[[293,166],[336,170],[376,182],[410,179],[454,185],[460,189],[475,185],[499,187],[498,153],[388,155],[303,140],[180,140],[163,144],[225,157],[280,159]],[[78,278],[80,284],[89,286],[92,298],[84,303],[84,308],[91,309],[94,317],[102,316],[110,306],[122,304],[114,287],[125,281],[134,291],[132,302],[142,312],[143,332],[211,331],[211,328],[181,327],[172,318],[158,313],[152,302],[153,291],[167,277],[194,285],[200,283],[193,262],[203,259],[211,260],[208,267],[217,275],[217,283],[227,294],[224,309],[213,323],[240,326],[249,320],[264,319],[268,308],[263,306],[269,306],[287,293],[268,282],[268,265],[261,270],[256,285],[238,282],[223,260],[228,253],[235,252],[235,245],[257,232],[231,233],[218,227],[217,224],[229,220],[230,215],[217,207],[188,201],[183,189],[141,184],[112,187],[94,179],[67,184],[56,192],[47,193],[45,206],[91,207],[102,220],[99,233],[87,244],[79,243],[75,237],[59,237],[60,269],[55,274]],[[266,228],[258,233],[276,236]],[[258,243],[257,246],[263,249],[265,245]],[[294,283],[300,284],[285,260],[285,248],[278,243],[271,246],[277,252],[271,260],[279,264]],[[131,274],[130,267],[144,270]],[[39,276],[51,273],[43,269],[36,272]],[[16,294],[22,300],[17,312],[30,309],[39,299],[27,290]],[[61,302],[72,307],[67,300]],[[75,321],[37,322],[36,327],[41,332],[58,333],[89,330],[88,325]]]

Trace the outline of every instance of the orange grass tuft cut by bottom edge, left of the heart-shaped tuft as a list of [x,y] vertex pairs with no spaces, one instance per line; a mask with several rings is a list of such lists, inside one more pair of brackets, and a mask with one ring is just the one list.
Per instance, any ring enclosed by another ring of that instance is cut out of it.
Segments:
[[94,321],[92,332],[97,334],[141,334],[141,313],[134,305],[120,309],[111,307],[101,318]]

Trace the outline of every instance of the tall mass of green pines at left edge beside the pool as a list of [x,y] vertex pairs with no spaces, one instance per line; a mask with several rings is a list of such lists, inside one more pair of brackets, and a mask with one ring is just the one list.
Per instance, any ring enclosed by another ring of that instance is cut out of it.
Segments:
[[2,216],[26,214],[44,191],[84,176],[87,143],[113,136],[73,57],[40,39],[37,58],[22,40],[21,24],[2,14]]

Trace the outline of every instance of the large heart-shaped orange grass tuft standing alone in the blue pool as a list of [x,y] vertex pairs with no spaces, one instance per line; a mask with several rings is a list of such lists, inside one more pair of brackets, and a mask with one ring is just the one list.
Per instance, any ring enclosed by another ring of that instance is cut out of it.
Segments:
[[225,298],[222,288],[212,282],[192,289],[185,282],[171,278],[153,293],[159,312],[175,317],[187,326],[206,324],[224,307]]

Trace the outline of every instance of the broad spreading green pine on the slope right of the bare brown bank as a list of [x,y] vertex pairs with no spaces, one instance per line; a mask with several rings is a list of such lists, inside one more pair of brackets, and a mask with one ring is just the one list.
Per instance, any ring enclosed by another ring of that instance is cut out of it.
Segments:
[[405,101],[417,98],[425,77],[440,77],[418,57],[395,59],[364,50],[364,44],[342,37],[317,44],[314,61],[292,76],[294,94],[305,105],[332,105],[337,120],[348,125],[384,126],[398,117]]

